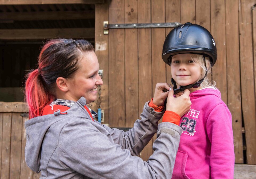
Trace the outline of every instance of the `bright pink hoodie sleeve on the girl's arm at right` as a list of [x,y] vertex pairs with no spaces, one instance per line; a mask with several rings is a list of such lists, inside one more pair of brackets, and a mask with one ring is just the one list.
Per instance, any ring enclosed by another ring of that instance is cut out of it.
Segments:
[[211,142],[211,178],[233,178],[235,155],[232,118],[227,106],[216,105],[211,110],[206,125]]

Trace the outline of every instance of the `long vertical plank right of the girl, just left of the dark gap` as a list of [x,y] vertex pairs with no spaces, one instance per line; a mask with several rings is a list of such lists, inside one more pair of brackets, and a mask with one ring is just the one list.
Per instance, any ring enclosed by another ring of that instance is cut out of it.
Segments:
[[228,107],[232,114],[235,163],[243,163],[242,106],[239,62],[238,0],[226,1]]

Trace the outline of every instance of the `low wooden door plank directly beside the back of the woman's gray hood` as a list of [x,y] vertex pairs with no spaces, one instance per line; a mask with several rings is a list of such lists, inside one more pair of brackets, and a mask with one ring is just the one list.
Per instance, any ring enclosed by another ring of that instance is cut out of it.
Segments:
[[25,146],[26,146],[26,129],[25,129],[25,122],[28,121],[28,117],[22,118],[22,147],[21,147],[21,175],[20,178],[33,178],[33,171],[27,166],[25,161]]

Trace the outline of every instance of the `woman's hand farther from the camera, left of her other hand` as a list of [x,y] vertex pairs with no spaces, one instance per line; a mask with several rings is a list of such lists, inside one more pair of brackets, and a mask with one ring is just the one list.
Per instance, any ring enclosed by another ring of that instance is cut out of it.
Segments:
[[157,106],[163,106],[165,99],[168,96],[171,85],[168,83],[157,83],[155,86],[155,94],[153,103]]

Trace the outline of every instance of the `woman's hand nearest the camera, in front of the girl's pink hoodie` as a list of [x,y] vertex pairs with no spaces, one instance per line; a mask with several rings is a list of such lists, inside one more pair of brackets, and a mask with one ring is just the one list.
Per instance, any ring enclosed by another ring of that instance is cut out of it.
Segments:
[[173,97],[173,89],[171,89],[167,98],[166,110],[173,111],[179,114],[179,116],[183,116],[191,106],[189,94],[190,91],[185,89],[181,96]]

